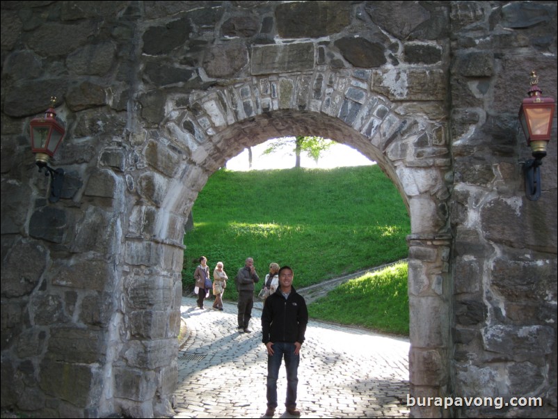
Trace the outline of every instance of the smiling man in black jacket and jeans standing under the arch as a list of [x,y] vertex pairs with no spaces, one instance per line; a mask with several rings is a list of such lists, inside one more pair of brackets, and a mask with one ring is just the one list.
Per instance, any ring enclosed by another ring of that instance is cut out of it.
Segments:
[[267,349],[267,410],[273,416],[277,407],[277,377],[282,358],[287,370],[287,412],[300,416],[296,409],[298,363],[304,342],[308,309],[306,301],[292,286],[294,275],[290,267],[279,269],[279,287],[264,303],[262,312],[262,342]]

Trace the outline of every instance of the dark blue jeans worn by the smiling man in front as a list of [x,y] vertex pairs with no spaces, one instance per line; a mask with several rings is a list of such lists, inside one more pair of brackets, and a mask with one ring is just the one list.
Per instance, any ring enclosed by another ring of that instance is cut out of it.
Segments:
[[281,367],[282,358],[285,358],[287,370],[287,399],[285,406],[296,407],[296,387],[298,386],[298,363],[300,355],[294,354],[294,343],[273,342],[273,355],[267,356],[267,406],[277,407],[277,377]]

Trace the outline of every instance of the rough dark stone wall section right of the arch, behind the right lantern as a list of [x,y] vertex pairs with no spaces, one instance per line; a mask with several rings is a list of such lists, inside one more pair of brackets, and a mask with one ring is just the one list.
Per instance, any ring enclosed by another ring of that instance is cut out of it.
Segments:
[[[516,120],[529,68],[537,70],[543,94],[556,97],[556,4],[493,6],[452,7],[454,392],[542,397],[545,407],[531,414],[552,416],[556,119],[537,201],[525,198],[518,161],[532,157]],[[525,414],[524,408],[502,410],[477,414]]]

